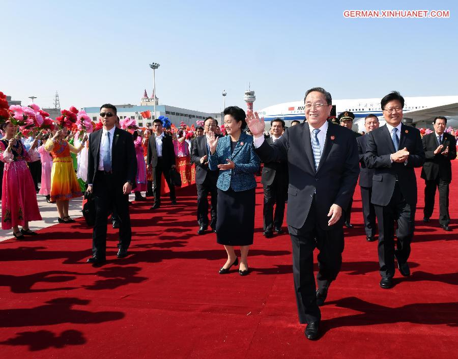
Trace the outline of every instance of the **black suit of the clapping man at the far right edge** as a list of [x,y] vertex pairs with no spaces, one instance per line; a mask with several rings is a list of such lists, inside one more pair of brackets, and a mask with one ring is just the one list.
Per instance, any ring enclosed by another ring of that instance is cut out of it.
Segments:
[[[441,226],[450,223],[448,213],[448,193],[451,182],[451,162],[456,158],[456,140],[449,133],[442,134],[442,142],[439,144],[436,132],[425,134],[422,139],[425,161],[421,170],[421,178],[424,179],[424,217],[430,218],[434,210],[434,198],[436,187],[439,188],[439,224]],[[437,155],[434,154],[436,148],[443,145],[443,149]],[[448,154],[444,156],[442,152],[448,146]]]

